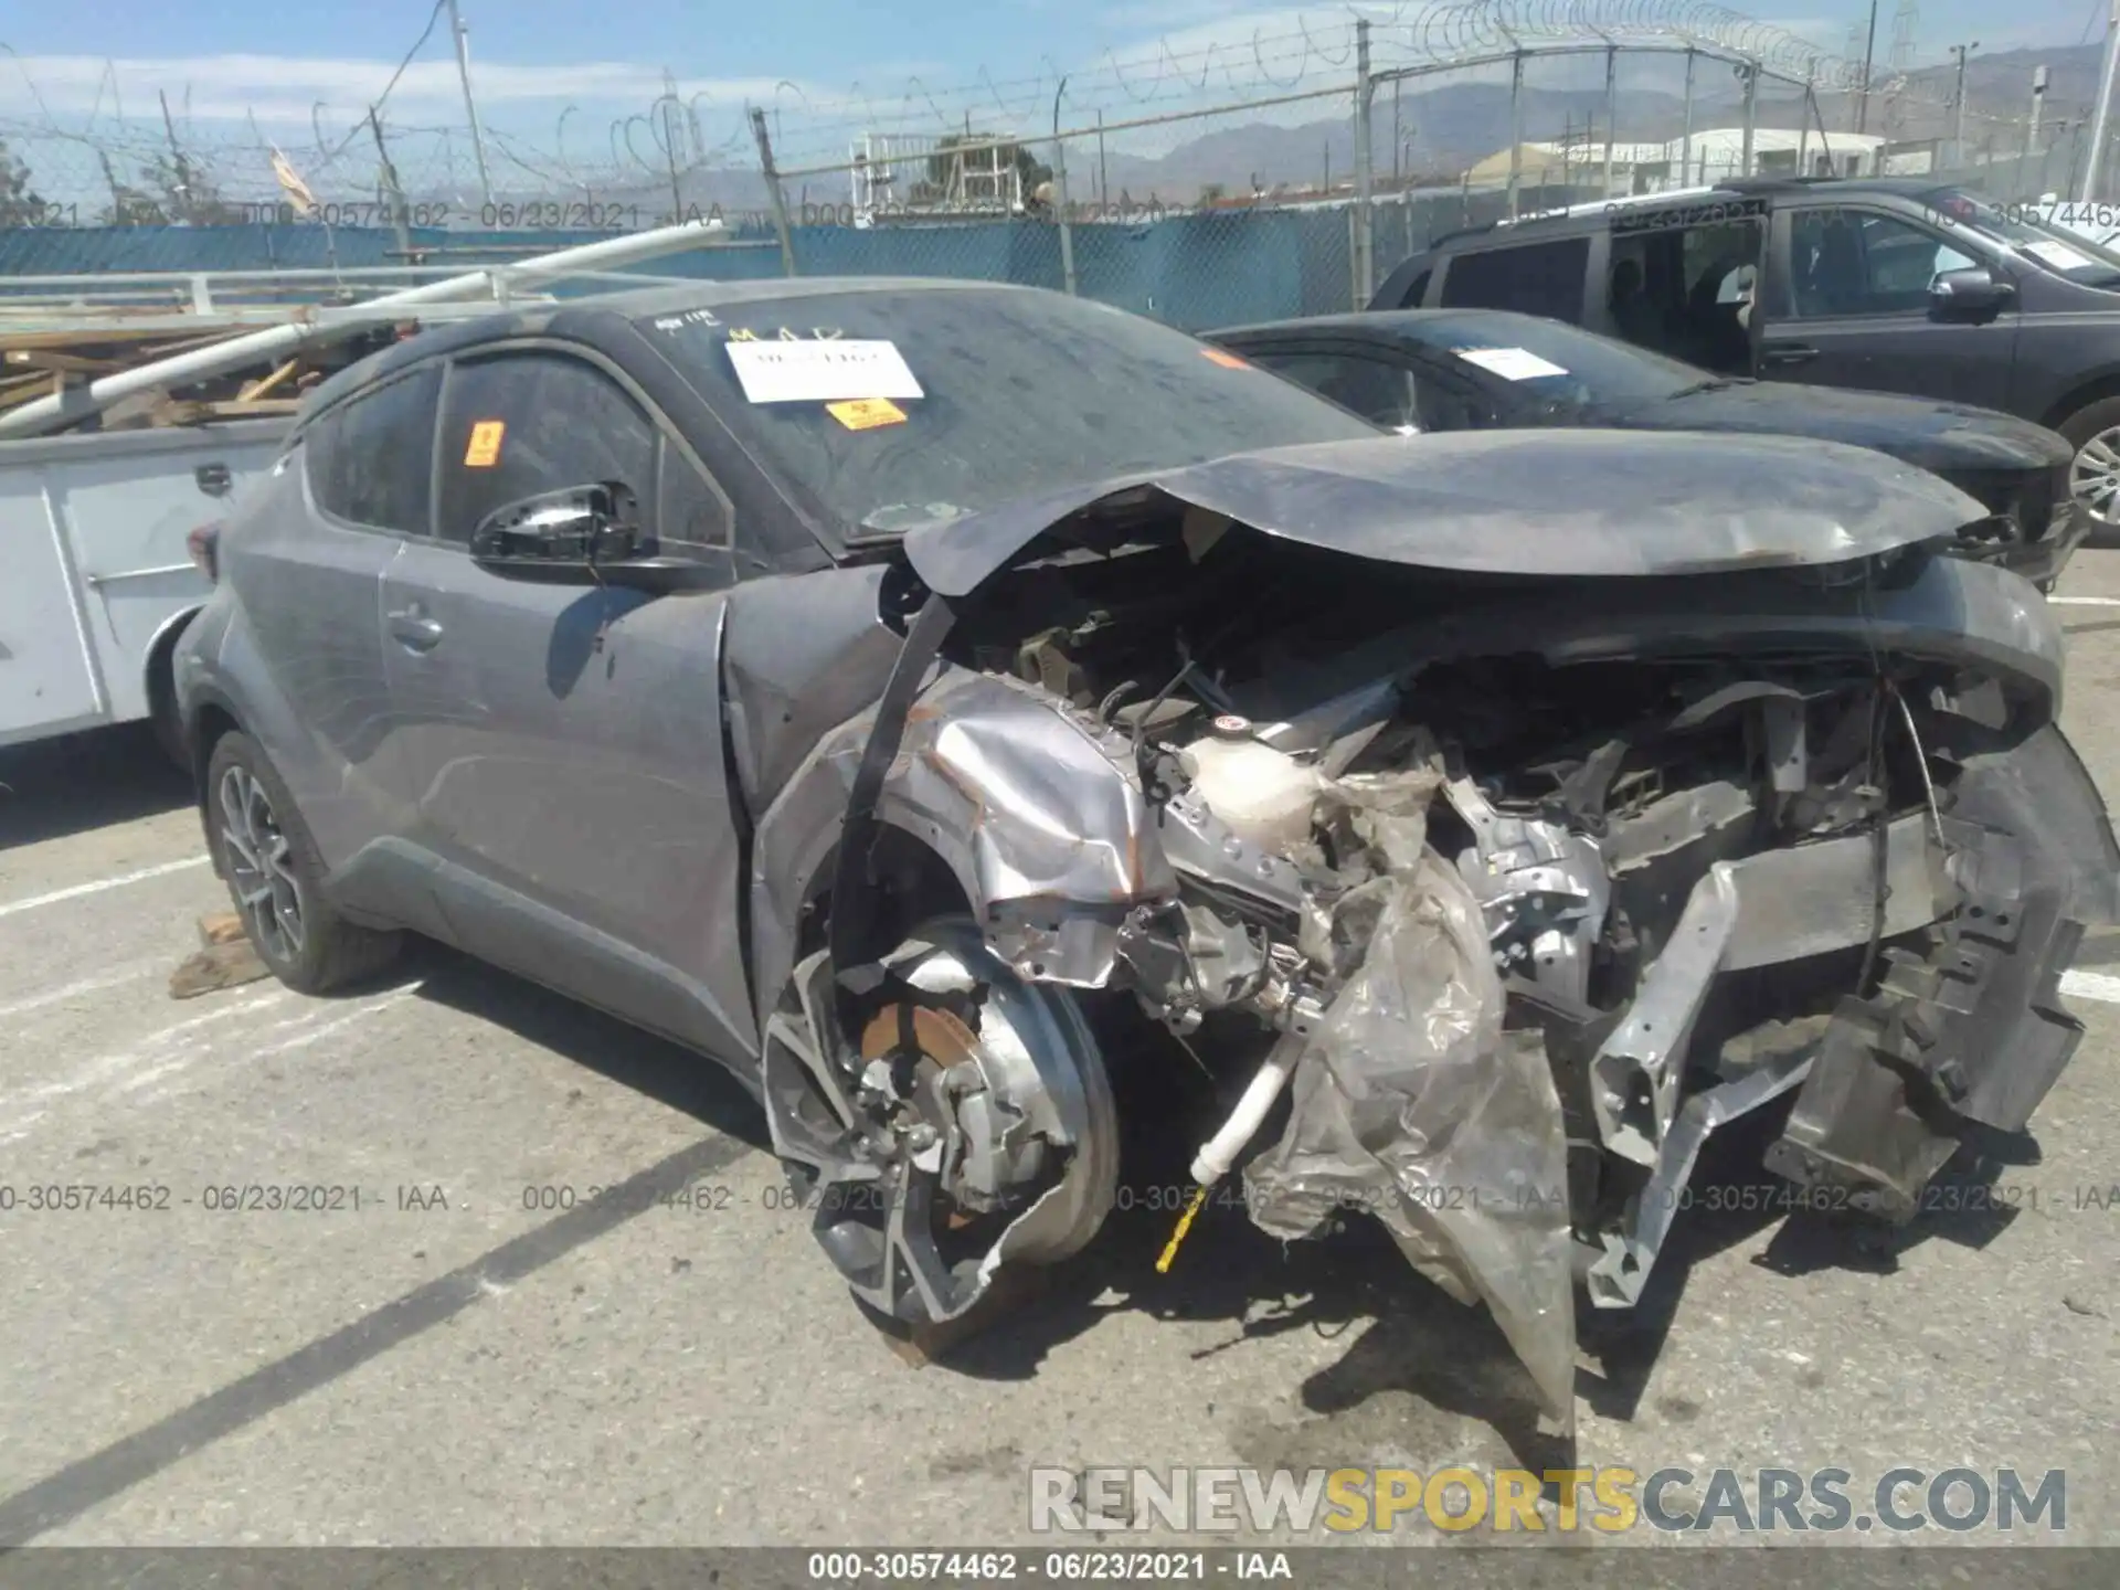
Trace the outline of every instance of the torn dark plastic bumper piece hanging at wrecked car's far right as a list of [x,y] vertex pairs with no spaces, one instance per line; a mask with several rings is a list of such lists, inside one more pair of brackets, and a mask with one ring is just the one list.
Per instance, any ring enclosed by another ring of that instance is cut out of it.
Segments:
[[1963,901],[1942,941],[1887,952],[1876,992],[1842,1001],[1768,1149],[1777,1174],[1891,1221],[1969,1128],[2025,1130],[2084,1035],[2061,973],[2116,920],[2120,850],[2054,729],[1967,763],[1948,837]]

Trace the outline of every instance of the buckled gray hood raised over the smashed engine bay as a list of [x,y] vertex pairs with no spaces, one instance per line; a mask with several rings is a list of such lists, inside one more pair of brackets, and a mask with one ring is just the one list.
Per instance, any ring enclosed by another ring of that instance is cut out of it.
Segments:
[[1062,519],[1141,490],[1350,558],[1545,577],[1838,564],[1948,541],[1984,515],[1936,475],[1832,441],[1480,430],[1075,485],[912,530],[905,558],[937,596],[967,596]]

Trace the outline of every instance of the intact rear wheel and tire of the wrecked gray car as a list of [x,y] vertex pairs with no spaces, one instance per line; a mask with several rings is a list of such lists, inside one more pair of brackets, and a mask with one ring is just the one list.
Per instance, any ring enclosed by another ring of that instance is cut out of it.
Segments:
[[206,763],[206,814],[214,865],[229,884],[250,948],[280,982],[301,994],[329,994],[373,977],[396,958],[403,933],[348,922],[324,899],[316,840],[250,736],[225,734],[214,742]]

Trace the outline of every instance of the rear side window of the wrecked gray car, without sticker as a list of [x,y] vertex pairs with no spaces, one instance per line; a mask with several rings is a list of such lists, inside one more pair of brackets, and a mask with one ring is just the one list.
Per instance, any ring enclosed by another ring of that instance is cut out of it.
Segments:
[[310,492],[348,524],[430,534],[435,399],[441,367],[428,365],[341,403],[303,435]]

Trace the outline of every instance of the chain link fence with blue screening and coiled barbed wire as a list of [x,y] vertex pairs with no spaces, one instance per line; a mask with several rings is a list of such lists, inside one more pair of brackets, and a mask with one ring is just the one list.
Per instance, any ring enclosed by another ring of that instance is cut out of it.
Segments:
[[[710,246],[655,273],[1022,282],[1204,329],[1361,307],[1450,231],[1741,174],[1929,172],[2014,201],[2075,191],[2080,114],[2033,136],[1906,83],[1857,110],[1836,64],[1747,51],[1757,25],[1732,28],[1724,42],[1637,28],[1586,45],[1556,21],[1543,42],[1480,55],[1467,36],[1456,64],[1435,64],[1372,53],[1359,25],[1344,72],[1240,104],[1083,112],[1062,81],[1043,134],[999,95],[952,131],[854,134],[789,134],[767,110],[708,127],[666,95],[613,123],[600,159],[566,117],[543,148],[379,114],[295,148],[170,119],[93,138],[0,121],[0,278],[469,267],[700,220]],[[1439,85],[1486,106],[1456,146],[1416,125],[1418,93]],[[1847,131],[1863,114],[1878,134]]]

